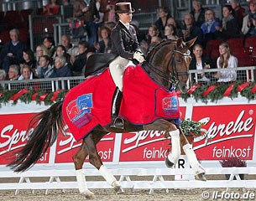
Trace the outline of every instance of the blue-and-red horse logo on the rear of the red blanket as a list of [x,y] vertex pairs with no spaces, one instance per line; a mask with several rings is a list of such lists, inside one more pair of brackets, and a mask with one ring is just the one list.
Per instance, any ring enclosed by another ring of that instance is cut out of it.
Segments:
[[91,121],[92,94],[79,96],[67,106],[70,120],[79,128]]

